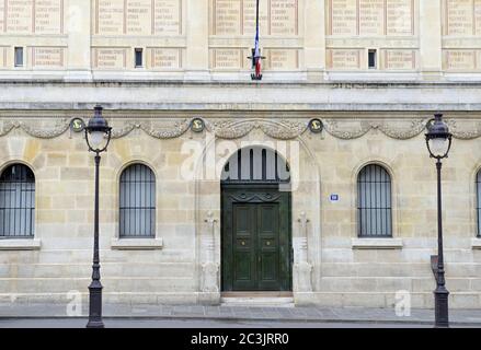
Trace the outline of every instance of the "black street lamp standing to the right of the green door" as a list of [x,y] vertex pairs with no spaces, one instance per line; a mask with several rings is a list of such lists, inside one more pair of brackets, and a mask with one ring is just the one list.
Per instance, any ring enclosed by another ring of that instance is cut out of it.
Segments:
[[426,144],[431,158],[436,159],[437,170],[437,267],[435,268],[436,290],[434,291],[435,327],[449,327],[448,295],[444,277],[444,254],[443,254],[443,205],[440,188],[442,159],[448,156],[451,148],[453,135],[443,115],[434,115],[434,121],[430,125],[426,133]]

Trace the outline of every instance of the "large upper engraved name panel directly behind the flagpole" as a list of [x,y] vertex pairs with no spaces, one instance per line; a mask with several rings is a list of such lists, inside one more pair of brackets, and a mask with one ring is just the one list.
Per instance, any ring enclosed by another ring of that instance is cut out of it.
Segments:
[[[260,3],[261,35],[298,35],[298,0]],[[255,0],[210,0],[211,35],[239,36],[255,33]]]

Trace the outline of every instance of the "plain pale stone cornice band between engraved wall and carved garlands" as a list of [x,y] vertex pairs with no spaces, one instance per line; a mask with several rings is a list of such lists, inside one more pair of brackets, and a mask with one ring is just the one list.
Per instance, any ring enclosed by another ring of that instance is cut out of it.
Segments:
[[0,109],[481,112],[477,83],[3,83]]

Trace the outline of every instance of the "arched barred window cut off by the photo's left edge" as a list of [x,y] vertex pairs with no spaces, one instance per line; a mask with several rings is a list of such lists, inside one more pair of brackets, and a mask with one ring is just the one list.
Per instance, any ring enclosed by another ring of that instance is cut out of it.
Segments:
[[8,166],[0,176],[0,237],[33,237],[35,176],[23,164]]

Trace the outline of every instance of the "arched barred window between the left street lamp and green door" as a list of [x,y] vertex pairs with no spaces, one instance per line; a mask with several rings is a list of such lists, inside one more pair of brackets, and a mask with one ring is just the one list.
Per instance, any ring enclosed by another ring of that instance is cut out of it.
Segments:
[[156,176],[144,164],[133,164],[121,175],[121,237],[156,235]]

